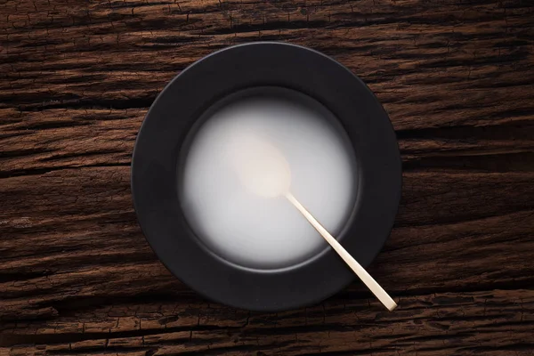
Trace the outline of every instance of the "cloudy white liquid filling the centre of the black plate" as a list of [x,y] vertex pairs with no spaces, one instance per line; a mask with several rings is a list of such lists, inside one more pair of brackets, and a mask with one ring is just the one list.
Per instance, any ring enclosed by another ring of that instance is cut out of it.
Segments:
[[352,214],[357,177],[348,137],[328,109],[291,93],[231,101],[191,139],[182,209],[198,239],[231,263],[278,269],[327,247],[279,194],[287,185],[334,236]]

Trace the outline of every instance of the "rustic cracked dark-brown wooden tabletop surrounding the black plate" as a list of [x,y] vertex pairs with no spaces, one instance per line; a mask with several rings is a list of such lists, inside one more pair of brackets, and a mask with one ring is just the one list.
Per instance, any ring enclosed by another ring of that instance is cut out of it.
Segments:
[[[145,242],[135,135],[230,44],[336,58],[384,103],[395,229],[360,283],[263,314],[200,298]],[[534,2],[0,0],[0,354],[534,355]]]

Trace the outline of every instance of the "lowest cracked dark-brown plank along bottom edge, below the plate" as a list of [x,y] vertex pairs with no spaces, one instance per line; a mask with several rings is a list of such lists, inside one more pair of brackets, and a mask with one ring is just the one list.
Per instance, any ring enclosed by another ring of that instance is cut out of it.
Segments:
[[132,302],[81,312],[66,308],[53,325],[18,323],[12,344],[47,345],[13,345],[12,354],[525,355],[534,327],[534,293],[527,290],[414,295],[401,298],[402,310],[394,313],[343,296],[268,315],[198,302]]

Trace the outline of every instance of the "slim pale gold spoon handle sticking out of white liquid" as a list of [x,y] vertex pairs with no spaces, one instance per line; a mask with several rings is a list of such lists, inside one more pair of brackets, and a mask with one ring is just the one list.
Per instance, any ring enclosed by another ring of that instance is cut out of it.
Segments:
[[349,254],[348,251],[345,250],[344,247],[341,246],[341,244],[337,242],[332,235],[330,235],[330,233],[313,217],[312,214],[310,214],[308,210],[306,210],[306,208],[293,196],[293,194],[288,192],[286,194],[286,198],[301,214],[303,214],[306,220],[312,224],[313,228],[320,233],[320,236],[327,240],[328,244],[334,248],[337,255],[340,255],[341,258],[343,258],[344,262],[351,267],[352,271],[354,271],[354,273],[356,273],[361,281],[365,283],[370,291],[376,295],[376,298],[378,298],[378,300],[382,302],[390,312],[392,312],[392,310],[397,307],[397,303],[395,303],[392,300],[392,297],[385,292],[384,288],[380,287],[380,285],[376,283],[376,280],[373,279],[370,274],[368,274],[368,271],[365,271],[365,269],[361,267],[360,263],[358,263],[358,261],[356,261],[354,257],[352,257],[352,255]]

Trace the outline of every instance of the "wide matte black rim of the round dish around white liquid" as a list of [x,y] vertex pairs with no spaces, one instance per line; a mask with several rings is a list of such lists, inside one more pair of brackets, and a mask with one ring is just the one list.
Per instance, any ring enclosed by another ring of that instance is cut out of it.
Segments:
[[202,114],[232,93],[293,89],[332,111],[348,134],[359,167],[352,218],[338,237],[364,267],[387,239],[401,197],[401,158],[387,114],[368,87],[331,58],[281,43],[242,44],[213,53],[159,94],[135,143],[134,206],[150,246],[176,277],[220,303],[279,311],[318,303],[348,285],[353,272],[329,247],[304,263],[255,270],[225,261],[191,231],[178,182],[182,150]]

